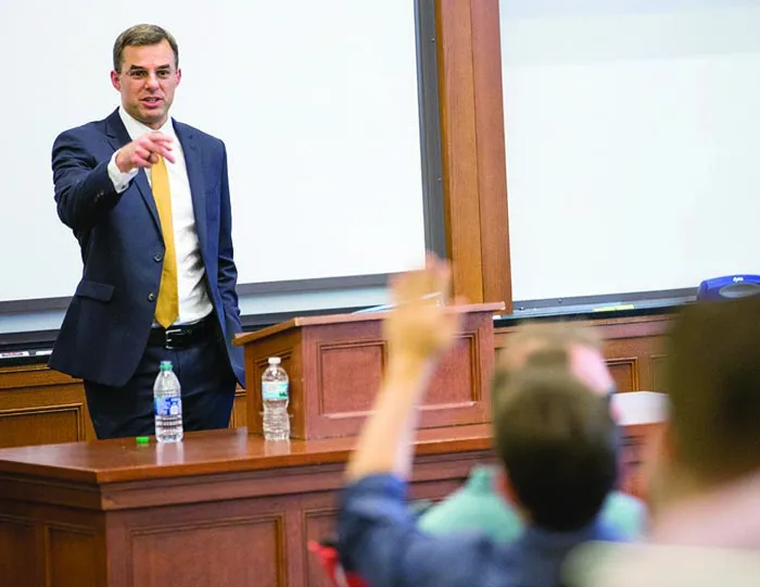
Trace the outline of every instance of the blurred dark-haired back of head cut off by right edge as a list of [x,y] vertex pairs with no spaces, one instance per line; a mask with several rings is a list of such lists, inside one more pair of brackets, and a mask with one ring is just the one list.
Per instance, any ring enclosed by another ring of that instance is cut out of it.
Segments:
[[666,391],[679,464],[704,482],[760,469],[760,297],[686,307]]

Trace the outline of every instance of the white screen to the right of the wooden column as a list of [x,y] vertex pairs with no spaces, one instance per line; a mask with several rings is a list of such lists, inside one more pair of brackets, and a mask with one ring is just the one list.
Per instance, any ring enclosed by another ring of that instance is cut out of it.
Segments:
[[760,273],[758,32],[758,1],[501,1],[516,300]]

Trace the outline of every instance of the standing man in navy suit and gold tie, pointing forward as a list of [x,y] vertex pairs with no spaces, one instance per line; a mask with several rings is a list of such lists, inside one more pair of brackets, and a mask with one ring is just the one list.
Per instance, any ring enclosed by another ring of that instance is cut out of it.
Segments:
[[58,213],[84,272],[50,366],[84,379],[99,438],[153,434],[164,360],[185,429],[223,428],[243,385],[225,145],[169,117],[181,79],[169,33],[134,26],[113,58],[121,107],[53,145]]

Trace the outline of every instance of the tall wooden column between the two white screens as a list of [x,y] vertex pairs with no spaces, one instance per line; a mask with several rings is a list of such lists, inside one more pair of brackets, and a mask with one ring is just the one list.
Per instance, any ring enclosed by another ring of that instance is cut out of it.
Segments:
[[511,312],[498,0],[438,0],[435,9],[454,290]]

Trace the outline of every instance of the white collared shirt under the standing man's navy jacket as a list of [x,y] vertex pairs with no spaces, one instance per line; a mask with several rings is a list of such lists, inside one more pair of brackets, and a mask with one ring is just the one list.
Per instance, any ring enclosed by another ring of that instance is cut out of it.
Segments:
[[[136,121],[121,107],[118,109],[118,114],[132,140],[141,137],[145,133],[152,132],[151,128]],[[172,163],[166,160],[166,168],[168,171],[169,190],[172,192],[174,246],[177,251],[179,317],[175,321],[175,324],[192,324],[208,315],[213,310],[213,305],[203,279],[205,276],[205,267],[203,266],[198,232],[195,230],[195,214],[192,209],[190,180],[188,179],[188,170],[185,162],[182,146],[174,132],[170,117],[159,132],[174,138],[172,154],[174,154],[175,162]],[[111,162],[109,163],[109,176],[117,192],[121,193],[127,189],[129,182],[132,180],[138,172],[138,168],[134,168],[127,173],[122,173],[116,166],[116,153],[111,158]],[[145,175],[150,184],[150,168],[145,168]]]

